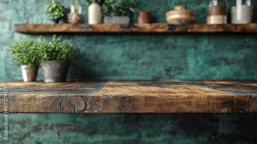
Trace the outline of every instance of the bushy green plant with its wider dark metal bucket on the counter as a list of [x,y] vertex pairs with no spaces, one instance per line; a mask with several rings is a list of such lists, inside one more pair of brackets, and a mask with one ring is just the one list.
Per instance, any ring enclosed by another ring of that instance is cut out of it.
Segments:
[[50,42],[41,39],[39,43],[44,82],[65,82],[69,63],[76,57],[72,42],[57,38],[54,34]]

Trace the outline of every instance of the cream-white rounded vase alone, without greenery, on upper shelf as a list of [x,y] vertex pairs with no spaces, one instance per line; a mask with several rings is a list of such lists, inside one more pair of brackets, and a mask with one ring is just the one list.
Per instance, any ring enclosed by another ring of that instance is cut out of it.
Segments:
[[102,23],[102,7],[98,3],[91,3],[88,6],[88,24],[95,25]]

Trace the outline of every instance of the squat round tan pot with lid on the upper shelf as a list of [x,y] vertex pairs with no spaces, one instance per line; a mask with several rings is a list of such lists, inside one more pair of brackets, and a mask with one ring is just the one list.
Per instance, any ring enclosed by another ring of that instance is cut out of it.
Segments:
[[166,21],[172,25],[193,23],[195,21],[195,12],[185,6],[175,6],[174,10],[166,13]]

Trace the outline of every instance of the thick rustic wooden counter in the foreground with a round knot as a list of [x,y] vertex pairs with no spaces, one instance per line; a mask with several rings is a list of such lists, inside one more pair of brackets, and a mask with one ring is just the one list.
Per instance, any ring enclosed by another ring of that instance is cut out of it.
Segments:
[[[5,84],[9,113],[257,113],[257,81]],[[4,104],[0,108],[5,112]]]

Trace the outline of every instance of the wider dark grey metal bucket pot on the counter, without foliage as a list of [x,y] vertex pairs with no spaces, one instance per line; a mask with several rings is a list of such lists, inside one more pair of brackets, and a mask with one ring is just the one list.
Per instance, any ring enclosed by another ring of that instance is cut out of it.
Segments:
[[65,82],[69,61],[45,61],[40,64],[44,82]]

